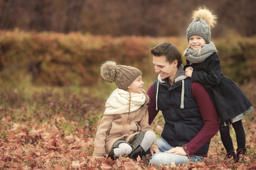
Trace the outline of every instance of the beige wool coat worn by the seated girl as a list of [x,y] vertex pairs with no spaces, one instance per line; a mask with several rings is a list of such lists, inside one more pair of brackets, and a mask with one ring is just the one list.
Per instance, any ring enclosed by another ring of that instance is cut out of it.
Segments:
[[[127,114],[104,114],[94,140],[93,156],[104,156],[105,153],[109,153],[113,144],[119,139],[129,143],[139,132],[153,131],[148,124],[147,108],[139,108],[137,111],[131,112],[124,128],[122,121]],[[158,148],[156,140],[151,147]]]

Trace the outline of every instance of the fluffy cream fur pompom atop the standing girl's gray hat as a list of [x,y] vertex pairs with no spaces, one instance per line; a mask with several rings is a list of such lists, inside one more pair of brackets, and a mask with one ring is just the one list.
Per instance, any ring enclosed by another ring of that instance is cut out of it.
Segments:
[[197,10],[193,11],[192,13],[192,21],[200,18],[207,22],[210,29],[214,28],[217,23],[217,15],[213,15],[212,11],[209,11],[205,6],[198,7]]

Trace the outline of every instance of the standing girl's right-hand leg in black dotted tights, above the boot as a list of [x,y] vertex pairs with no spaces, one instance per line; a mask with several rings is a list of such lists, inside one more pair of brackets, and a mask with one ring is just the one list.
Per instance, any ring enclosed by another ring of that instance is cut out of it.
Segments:
[[238,148],[246,148],[246,141],[245,141],[245,130],[243,129],[242,120],[234,122],[232,124],[237,138],[237,147]]

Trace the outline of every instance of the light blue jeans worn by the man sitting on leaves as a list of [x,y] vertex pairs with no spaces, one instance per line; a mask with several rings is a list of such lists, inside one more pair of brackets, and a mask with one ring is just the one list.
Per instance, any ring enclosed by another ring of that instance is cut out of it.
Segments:
[[[162,137],[157,138],[156,141],[158,142],[158,148],[159,148],[160,152],[155,153],[153,156],[151,156],[149,165],[154,163],[159,168],[159,163],[161,163],[162,165],[164,165],[164,163],[171,165],[172,161],[174,161],[175,165],[179,165],[179,164],[182,165],[182,164],[189,163],[188,156],[164,153],[164,151],[168,151],[171,148],[174,148],[171,145],[169,145],[164,138],[162,138]],[[192,155],[192,156],[190,156],[190,158],[191,158],[192,162],[203,162],[204,161],[203,156]]]

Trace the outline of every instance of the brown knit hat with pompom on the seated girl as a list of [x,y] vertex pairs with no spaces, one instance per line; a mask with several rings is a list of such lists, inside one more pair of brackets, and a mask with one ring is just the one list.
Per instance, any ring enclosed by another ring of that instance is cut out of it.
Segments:
[[132,66],[117,65],[114,61],[106,61],[101,66],[101,78],[108,82],[115,82],[117,88],[128,90],[128,87],[141,71]]

